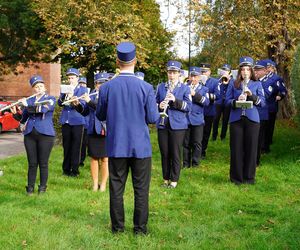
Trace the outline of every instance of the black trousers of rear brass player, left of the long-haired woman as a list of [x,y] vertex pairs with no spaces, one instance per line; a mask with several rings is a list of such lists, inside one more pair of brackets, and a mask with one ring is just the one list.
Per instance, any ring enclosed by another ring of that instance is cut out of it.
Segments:
[[229,121],[229,115],[230,115],[230,106],[225,106],[225,104],[216,104],[216,115],[214,117],[213,122],[213,139],[217,139],[218,136],[218,127],[219,122],[222,116],[222,129],[221,129],[221,140],[225,139],[226,133],[227,133],[227,127],[228,127],[228,121]]

